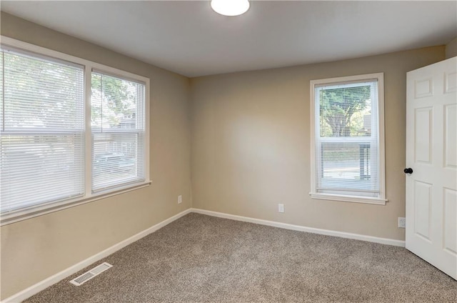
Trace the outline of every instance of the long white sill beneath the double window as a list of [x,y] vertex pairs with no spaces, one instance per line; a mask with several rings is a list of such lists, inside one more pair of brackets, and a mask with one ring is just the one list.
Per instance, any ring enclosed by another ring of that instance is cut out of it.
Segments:
[[0,226],[4,226],[7,224],[19,222],[22,220],[30,219],[33,217],[39,217],[44,214],[49,214],[51,212],[58,212],[62,209],[68,209],[70,207],[76,207],[81,204],[86,204],[89,202],[94,202],[100,199],[105,199],[108,197],[113,197],[118,194],[124,194],[126,192],[131,192],[136,189],[141,189],[144,187],[149,187],[151,185],[151,181],[141,182],[139,184],[134,184],[129,187],[125,187],[122,189],[118,189],[113,192],[104,192],[100,194],[92,194],[91,197],[79,197],[76,199],[67,200],[65,202],[54,202],[42,206],[31,207],[30,209],[23,209],[18,210],[16,212],[10,212],[3,214],[0,219]]

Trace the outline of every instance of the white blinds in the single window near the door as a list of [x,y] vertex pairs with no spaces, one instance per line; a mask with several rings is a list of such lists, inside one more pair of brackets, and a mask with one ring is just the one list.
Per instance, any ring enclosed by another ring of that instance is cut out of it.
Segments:
[[314,86],[315,190],[381,197],[378,81]]

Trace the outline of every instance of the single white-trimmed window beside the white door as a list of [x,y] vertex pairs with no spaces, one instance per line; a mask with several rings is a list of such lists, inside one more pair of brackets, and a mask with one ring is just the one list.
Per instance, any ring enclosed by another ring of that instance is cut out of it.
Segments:
[[311,81],[311,197],[385,204],[383,74]]

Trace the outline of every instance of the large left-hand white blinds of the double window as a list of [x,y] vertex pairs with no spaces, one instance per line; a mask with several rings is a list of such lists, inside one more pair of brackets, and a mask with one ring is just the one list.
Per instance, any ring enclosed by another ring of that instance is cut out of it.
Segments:
[[84,69],[1,49],[1,214],[84,195]]

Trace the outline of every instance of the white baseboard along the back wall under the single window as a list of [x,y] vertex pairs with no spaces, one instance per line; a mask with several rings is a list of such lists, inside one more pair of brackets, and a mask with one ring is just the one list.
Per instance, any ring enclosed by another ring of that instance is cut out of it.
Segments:
[[393,245],[393,246],[398,246],[398,247],[405,247],[404,241],[396,240],[396,239],[371,237],[371,236],[366,236],[364,234],[352,234],[350,232],[336,232],[333,230],[318,229],[318,228],[313,228],[313,227],[303,227],[301,225],[293,225],[293,224],[287,224],[287,223],[281,223],[281,222],[255,219],[255,218],[250,218],[250,217],[241,217],[241,216],[236,216],[235,214],[224,214],[222,212],[212,212],[212,211],[205,210],[205,209],[193,208],[193,209],[191,209],[191,212],[196,212],[197,214],[206,214],[206,215],[209,215],[212,217],[219,217],[219,218],[224,218],[224,219],[232,219],[232,220],[236,220],[236,221],[268,225],[271,227],[292,229],[292,230],[297,230],[299,232],[311,232],[313,234],[325,234],[326,236],[334,236],[334,237],[341,237],[341,238],[347,238],[347,239],[356,239],[356,240],[361,240],[361,241],[368,241],[368,242],[388,244],[388,245]]

